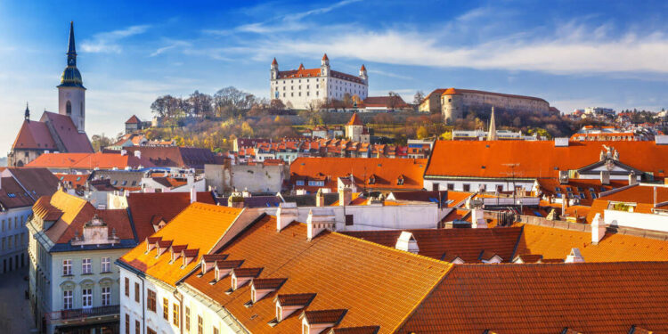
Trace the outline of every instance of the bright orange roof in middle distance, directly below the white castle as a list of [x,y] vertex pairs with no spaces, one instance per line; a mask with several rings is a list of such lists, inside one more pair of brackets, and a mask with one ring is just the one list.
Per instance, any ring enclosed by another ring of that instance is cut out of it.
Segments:
[[[336,190],[338,177],[349,177],[352,173],[358,188],[418,190],[423,187],[425,167],[427,159],[300,157],[290,164],[290,181],[325,180],[324,187]],[[370,183],[371,175],[375,183]],[[403,184],[397,183],[399,176],[403,176]],[[316,188],[322,187],[311,190]]]

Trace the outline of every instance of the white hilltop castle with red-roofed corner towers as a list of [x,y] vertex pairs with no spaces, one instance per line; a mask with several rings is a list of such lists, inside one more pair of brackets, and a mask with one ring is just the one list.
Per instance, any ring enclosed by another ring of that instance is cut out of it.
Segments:
[[322,56],[320,69],[279,70],[278,61],[273,59],[271,69],[270,96],[279,99],[291,109],[308,109],[309,102],[343,100],[346,94],[355,95],[360,101],[369,95],[369,76],[364,65],[358,77],[330,69],[327,54]]

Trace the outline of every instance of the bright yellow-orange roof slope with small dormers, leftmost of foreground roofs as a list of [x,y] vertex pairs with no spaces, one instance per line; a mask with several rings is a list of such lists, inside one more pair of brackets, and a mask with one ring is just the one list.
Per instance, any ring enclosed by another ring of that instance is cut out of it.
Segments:
[[155,249],[147,254],[146,240],[120,257],[118,261],[175,286],[176,281],[199,265],[200,256],[211,251],[240,213],[240,208],[225,208],[195,202],[175,216],[169,224],[155,232],[152,237],[172,240],[172,245],[187,245],[188,249],[199,249],[198,257],[185,267],[181,261],[169,264],[171,259],[169,251],[158,258]]

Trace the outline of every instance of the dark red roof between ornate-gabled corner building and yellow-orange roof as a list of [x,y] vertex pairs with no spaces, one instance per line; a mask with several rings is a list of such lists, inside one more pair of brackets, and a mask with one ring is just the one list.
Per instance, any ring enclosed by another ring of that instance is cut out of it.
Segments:
[[[216,204],[208,191],[197,193],[197,201]],[[156,218],[166,222],[174,219],[191,204],[190,192],[131,192],[127,197],[127,208],[132,216],[138,240],[155,233],[152,221]]]

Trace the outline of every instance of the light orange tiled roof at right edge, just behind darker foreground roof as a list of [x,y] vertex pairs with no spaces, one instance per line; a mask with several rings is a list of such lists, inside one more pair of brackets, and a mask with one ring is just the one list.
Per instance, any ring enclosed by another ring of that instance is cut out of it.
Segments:
[[524,225],[516,254],[564,259],[571,248],[579,248],[585,262],[668,261],[668,241],[607,233],[598,245],[592,245],[591,232],[533,224]]

